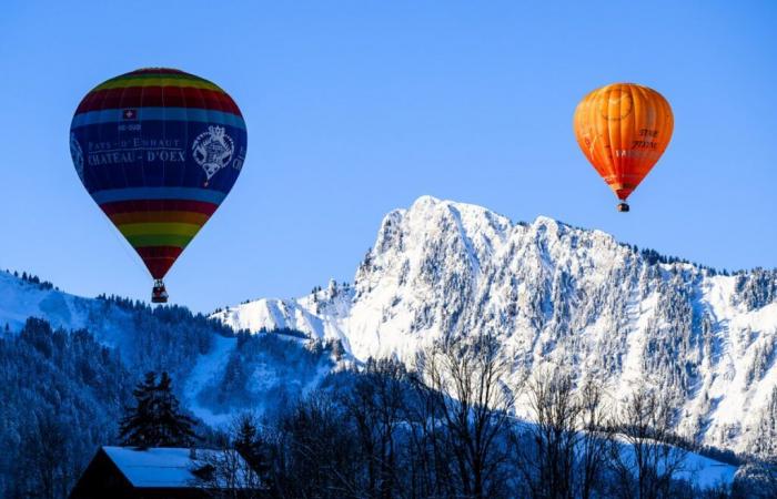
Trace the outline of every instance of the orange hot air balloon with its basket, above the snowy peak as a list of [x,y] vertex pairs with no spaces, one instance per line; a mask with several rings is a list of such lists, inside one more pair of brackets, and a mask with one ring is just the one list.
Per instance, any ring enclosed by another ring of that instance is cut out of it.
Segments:
[[577,104],[577,143],[620,198],[618,211],[628,211],[626,198],[669,145],[674,123],[666,99],[635,83],[602,86]]

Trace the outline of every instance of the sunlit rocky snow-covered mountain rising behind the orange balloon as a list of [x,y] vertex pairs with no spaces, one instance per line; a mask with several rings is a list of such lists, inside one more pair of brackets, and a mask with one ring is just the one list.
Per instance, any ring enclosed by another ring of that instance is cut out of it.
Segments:
[[385,216],[353,285],[214,317],[336,338],[360,359],[488,333],[516,370],[565,366],[614,400],[660,387],[699,444],[759,451],[777,431],[777,272],[724,275],[547,217],[424,196]]

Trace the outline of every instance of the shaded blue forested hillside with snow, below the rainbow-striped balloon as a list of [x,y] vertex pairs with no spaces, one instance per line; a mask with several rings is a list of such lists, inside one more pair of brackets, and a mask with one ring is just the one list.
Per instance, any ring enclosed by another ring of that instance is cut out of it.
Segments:
[[23,276],[0,272],[0,497],[39,497],[26,488],[36,483],[67,497],[94,450],[118,444],[145,371],[171,374],[206,436],[299,399],[337,361],[333,345],[292,332],[235,334],[182,307],[83,298]]

